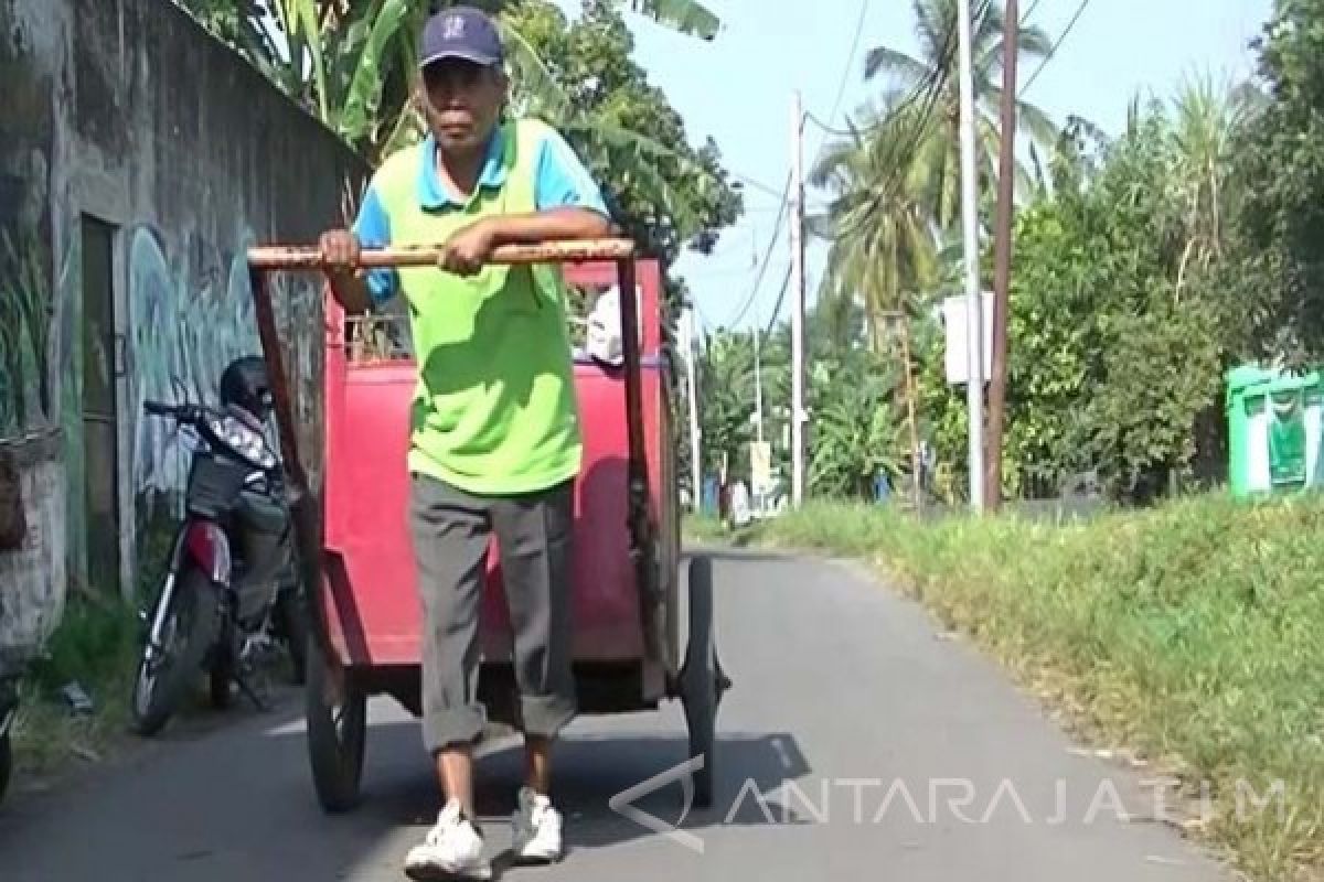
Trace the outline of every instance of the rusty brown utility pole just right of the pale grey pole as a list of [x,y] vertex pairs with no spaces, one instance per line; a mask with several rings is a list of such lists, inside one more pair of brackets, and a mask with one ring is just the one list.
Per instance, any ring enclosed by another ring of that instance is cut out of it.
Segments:
[[1017,0],[1006,0],[1002,37],[1002,138],[998,145],[997,227],[994,229],[993,376],[989,378],[989,435],[985,460],[985,504],[1002,504],[1002,419],[1006,409],[1006,324],[1012,284],[1012,197],[1016,181],[1016,62],[1021,36]]

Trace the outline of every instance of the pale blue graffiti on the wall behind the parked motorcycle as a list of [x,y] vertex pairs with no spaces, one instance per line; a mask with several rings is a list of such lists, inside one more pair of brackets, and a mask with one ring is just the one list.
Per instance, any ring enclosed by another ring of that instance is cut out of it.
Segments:
[[[167,258],[162,238],[138,227],[128,239],[130,395],[132,489],[142,502],[177,497],[188,477],[188,452],[168,421],[144,418],[147,401],[217,402],[221,372],[234,358],[261,354],[245,249],[252,235],[213,271],[193,271]],[[286,370],[293,374],[301,448],[315,443],[320,426],[320,308],[308,279],[273,279],[273,300]],[[315,463],[314,463],[315,465]]]

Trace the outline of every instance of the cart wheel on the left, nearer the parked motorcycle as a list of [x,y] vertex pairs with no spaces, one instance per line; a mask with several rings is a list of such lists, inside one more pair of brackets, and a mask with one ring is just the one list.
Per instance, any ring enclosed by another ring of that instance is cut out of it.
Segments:
[[346,677],[339,701],[328,696],[328,661],[308,637],[305,713],[308,730],[308,762],[318,801],[327,812],[347,812],[359,801],[363,748],[368,734],[368,698]]

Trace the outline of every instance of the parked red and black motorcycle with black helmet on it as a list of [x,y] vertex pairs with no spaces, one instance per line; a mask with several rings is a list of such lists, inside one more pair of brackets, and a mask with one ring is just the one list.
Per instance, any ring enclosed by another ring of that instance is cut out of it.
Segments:
[[193,678],[207,672],[213,706],[232,684],[260,707],[250,674],[275,641],[302,681],[307,618],[299,590],[293,499],[263,428],[271,415],[266,364],[233,361],[221,374],[221,407],[146,402],[192,440],[185,517],[160,592],[140,614],[146,640],[134,684],[135,731],[169,721]]

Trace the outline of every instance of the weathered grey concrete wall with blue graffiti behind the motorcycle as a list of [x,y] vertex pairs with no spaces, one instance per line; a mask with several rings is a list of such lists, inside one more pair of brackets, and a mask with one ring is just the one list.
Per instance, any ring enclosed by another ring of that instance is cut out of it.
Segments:
[[[343,196],[360,192],[367,169],[168,0],[0,0],[0,230],[30,258],[0,259],[0,299],[21,287],[15,267],[38,266],[50,304],[44,352],[28,346],[17,372],[4,370],[0,399],[17,386],[9,401],[25,415],[11,423],[62,430],[69,578],[94,583],[86,537],[109,525],[87,517],[85,362],[113,372],[119,577],[132,586],[135,537],[171,513],[187,461],[142,402],[176,399],[180,383],[211,399],[230,358],[260,352],[245,247],[311,242],[343,222]],[[114,229],[109,350],[82,342],[86,218]],[[318,295],[314,278],[277,286],[306,450],[320,431]]]

